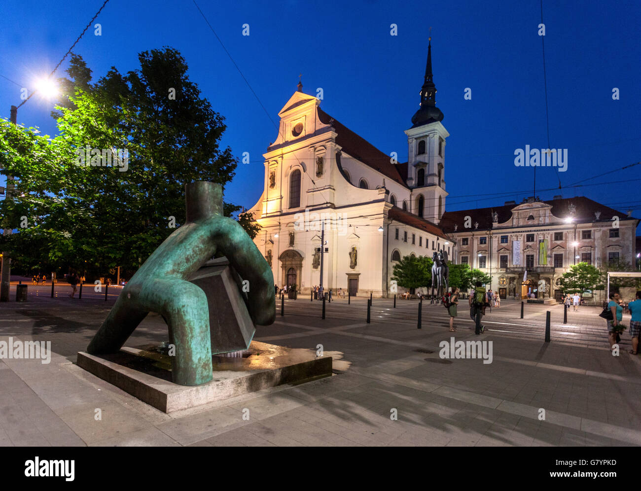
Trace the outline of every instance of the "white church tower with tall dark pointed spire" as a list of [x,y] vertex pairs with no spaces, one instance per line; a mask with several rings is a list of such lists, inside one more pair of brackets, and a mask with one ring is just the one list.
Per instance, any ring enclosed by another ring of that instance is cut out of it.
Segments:
[[425,78],[420,88],[420,109],[412,117],[412,128],[405,130],[408,141],[407,183],[412,189],[410,211],[438,224],[445,213],[445,138],[449,133],[441,123],[443,112],[436,106],[436,94],[430,37]]

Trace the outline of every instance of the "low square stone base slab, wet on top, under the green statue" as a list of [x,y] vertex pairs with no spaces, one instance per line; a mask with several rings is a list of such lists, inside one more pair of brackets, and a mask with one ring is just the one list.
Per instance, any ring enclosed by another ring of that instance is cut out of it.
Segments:
[[309,349],[252,341],[243,356],[213,356],[213,381],[193,387],[171,381],[162,346],[123,347],[119,353],[78,353],[78,366],[165,413],[238,395],[331,376],[332,359]]

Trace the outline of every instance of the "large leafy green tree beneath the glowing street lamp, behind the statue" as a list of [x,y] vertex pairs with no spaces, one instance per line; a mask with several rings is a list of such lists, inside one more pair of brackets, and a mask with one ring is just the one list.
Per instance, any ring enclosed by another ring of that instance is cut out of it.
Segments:
[[[138,60],[135,71],[112,67],[91,83],[74,55],[55,138],[0,120],[0,172],[16,178],[15,199],[0,212],[17,229],[2,242],[17,263],[131,274],[184,221],[186,183],[233,178],[237,159],[219,146],[224,118],[190,81],[181,54],[165,47]],[[238,210],[226,203],[227,215]]]

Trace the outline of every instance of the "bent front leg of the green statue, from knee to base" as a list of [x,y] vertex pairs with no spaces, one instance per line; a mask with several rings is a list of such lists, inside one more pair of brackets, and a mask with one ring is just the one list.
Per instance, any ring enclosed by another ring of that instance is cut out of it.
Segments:
[[[159,293],[162,293],[159,298]],[[176,347],[172,356],[172,381],[180,385],[201,385],[213,378],[212,342],[207,295],[194,283],[182,279],[156,279],[149,300],[158,305],[169,328],[169,342]]]

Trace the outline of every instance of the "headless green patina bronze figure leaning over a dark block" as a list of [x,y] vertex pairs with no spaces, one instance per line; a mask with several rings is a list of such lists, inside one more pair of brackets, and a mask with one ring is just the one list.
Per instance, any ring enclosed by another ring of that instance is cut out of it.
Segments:
[[247,310],[254,324],[276,317],[274,276],[246,231],[222,216],[222,187],[195,182],[185,186],[187,221],[160,244],[122,289],[118,300],[87,347],[90,354],[117,353],[149,312],[169,327],[172,380],[201,385],[213,378],[208,299],[187,281],[214,254],[224,255],[249,281]]

